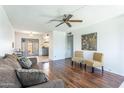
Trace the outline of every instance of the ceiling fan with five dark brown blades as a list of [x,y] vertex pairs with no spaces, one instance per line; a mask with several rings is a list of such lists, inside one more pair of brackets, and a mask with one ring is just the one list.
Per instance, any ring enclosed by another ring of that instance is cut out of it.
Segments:
[[60,19],[60,20],[53,19],[53,20],[50,20],[50,21],[61,22],[58,25],[56,25],[55,27],[58,27],[58,26],[60,26],[64,23],[67,24],[68,27],[72,27],[72,25],[70,24],[71,22],[83,22],[83,20],[71,20],[72,16],[73,16],[72,14],[64,14],[62,19]]

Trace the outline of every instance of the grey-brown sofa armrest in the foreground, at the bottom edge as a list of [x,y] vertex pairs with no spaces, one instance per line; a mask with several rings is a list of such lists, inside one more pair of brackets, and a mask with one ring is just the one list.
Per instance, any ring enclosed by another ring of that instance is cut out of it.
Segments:
[[48,81],[43,84],[30,86],[27,88],[64,88],[64,82],[61,79],[57,79],[57,80]]

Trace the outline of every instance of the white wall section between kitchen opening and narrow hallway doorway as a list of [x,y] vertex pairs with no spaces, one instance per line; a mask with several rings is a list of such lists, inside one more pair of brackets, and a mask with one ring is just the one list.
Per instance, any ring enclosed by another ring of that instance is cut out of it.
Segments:
[[49,59],[64,59],[66,51],[66,33],[62,31],[53,31],[50,35]]

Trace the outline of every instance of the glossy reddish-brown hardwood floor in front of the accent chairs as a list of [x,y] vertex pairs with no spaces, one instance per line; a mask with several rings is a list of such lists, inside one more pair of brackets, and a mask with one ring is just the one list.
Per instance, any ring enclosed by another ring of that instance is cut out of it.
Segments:
[[71,66],[70,59],[39,63],[40,68],[48,75],[50,80],[62,79],[66,88],[117,88],[124,81],[123,76],[95,69],[91,73],[88,67]]

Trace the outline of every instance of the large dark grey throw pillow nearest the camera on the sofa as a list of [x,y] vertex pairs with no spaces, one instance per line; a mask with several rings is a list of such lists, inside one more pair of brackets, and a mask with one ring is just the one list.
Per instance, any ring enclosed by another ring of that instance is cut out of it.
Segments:
[[16,73],[23,87],[37,85],[48,81],[47,76],[38,69],[17,69]]

